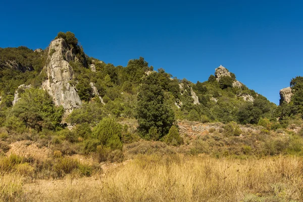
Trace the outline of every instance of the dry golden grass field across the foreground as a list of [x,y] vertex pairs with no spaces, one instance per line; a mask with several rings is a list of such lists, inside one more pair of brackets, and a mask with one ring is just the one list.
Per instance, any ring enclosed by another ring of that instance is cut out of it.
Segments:
[[[1,180],[0,193],[8,192],[6,187],[11,185],[3,185],[10,184],[10,179]],[[25,184],[22,190],[17,186],[11,201],[24,198],[26,201],[303,201],[303,160],[285,156],[249,160],[138,156],[104,176],[68,175],[63,180]]]

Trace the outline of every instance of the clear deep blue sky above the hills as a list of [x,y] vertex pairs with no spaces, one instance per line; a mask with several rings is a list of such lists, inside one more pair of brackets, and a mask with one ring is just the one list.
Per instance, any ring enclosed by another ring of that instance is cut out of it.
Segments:
[[0,47],[45,48],[74,32],[88,56],[126,66],[140,56],[180,79],[223,65],[278,104],[303,76],[302,1],[2,1]]

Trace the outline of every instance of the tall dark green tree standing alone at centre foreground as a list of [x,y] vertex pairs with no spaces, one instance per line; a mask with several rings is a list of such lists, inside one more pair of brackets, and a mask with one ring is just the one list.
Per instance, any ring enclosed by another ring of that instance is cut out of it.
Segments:
[[[145,139],[158,140],[163,137],[175,120],[171,108],[164,104],[164,90],[159,85],[158,74],[145,77],[137,94],[138,132]],[[155,137],[155,133],[159,134],[159,138]]]

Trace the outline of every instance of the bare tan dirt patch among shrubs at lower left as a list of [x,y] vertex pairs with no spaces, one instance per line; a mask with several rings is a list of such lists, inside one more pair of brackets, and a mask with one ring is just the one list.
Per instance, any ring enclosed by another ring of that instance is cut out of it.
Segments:
[[34,159],[46,159],[52,155],[52,150],[46,147],[39,148],[35,143],[28,140],[18,141],[9,145],[11,148],[7,152],[7,156],[11,154],[33,157]]

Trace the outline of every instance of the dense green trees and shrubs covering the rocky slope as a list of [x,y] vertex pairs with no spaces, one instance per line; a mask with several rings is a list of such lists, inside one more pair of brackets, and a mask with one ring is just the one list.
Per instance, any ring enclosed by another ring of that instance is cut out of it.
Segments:
[[[290,82],[294,93],[291,103],[277,107],[243,84],[233,87],[233,73],[219,81],[211,75],[207,81],[194,84],[172,78],[164,69],[154,71],[142,57],[130,60],[126,67],[89,58],[72,32],[59,32],[56,38],[63,38],[78,59],[70,61],[74,71],[70,83],[75,85],[83,105],[63,117],[63,108],[55,106],[52,98],[39,89],[45,79],[42,67],[47,62],[47,50],[1,48],[0,126],[11,140],[30,139],[55,147],[65,143],[77,145],[62,150],[63,154],[99,151],[119,156],[123,143],[140,138],[170,145],[184,143],[178,132],[180,120],[222,122],[227,124],[227,136],[237,136],[241,134],[237,124],[259,124],[270,131],[286,128],[291,120],[302,117],[302,77]],[[96,72],[90,70],[90,65],[95,66]],[[15,90],[23,83],[33,87],[19,89],[21,99],[12,106]],[[94,95],[90,83],[103,100]],[[199,103],[194,103],[194,95]],[[245,96],[253,102],[244,100]],[[132,124],[123,123],[129,120]],[[68,130],[67,125],[74,129]]]

